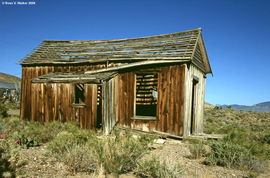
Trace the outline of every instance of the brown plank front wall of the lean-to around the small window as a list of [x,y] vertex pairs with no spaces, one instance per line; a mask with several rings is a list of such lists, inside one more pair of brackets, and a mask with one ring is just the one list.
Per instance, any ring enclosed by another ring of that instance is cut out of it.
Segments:
[[80,122],[80,128],[95,129],[97,84],[85,84],[85,107],[74,107],[72,83],[32,83],[31,120],[41,123],[52,121]]

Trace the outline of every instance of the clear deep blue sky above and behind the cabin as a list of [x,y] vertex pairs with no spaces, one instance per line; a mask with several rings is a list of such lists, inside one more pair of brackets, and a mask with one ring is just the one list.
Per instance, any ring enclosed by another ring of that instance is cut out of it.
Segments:
[[207,75],[205,101],[240,105],[270,101],[268,0],[2,2],[0,72],[21,77],[21,66],[15,63],[44,39],[137,38],[201,27],[214,74]]

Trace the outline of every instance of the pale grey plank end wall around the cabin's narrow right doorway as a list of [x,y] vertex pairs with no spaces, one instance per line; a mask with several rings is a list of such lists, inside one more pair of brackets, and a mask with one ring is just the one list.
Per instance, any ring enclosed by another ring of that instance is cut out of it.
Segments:
[[196,84],[195,101],[194,101],[194,123],[193,134],[198,134],[203,130],[203,106],[205,94],[205,74],[193,65],[186,68],[185,78],[185,98],[184,98],[184,129],[183,136],[190,135],[191,119],[191,101],[192,101],[192,80],[193,77],[199,80]]

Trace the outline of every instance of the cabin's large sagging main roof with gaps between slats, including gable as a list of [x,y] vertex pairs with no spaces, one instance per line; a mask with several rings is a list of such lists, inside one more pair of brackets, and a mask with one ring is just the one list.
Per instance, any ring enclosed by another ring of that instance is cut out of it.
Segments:
[[212,73],[202,40],[201,28],[166,35],[120,40],[44,40],[17,64],[79,65],[146,61],[159,61],[158,63],[190,61],[205,74]]

